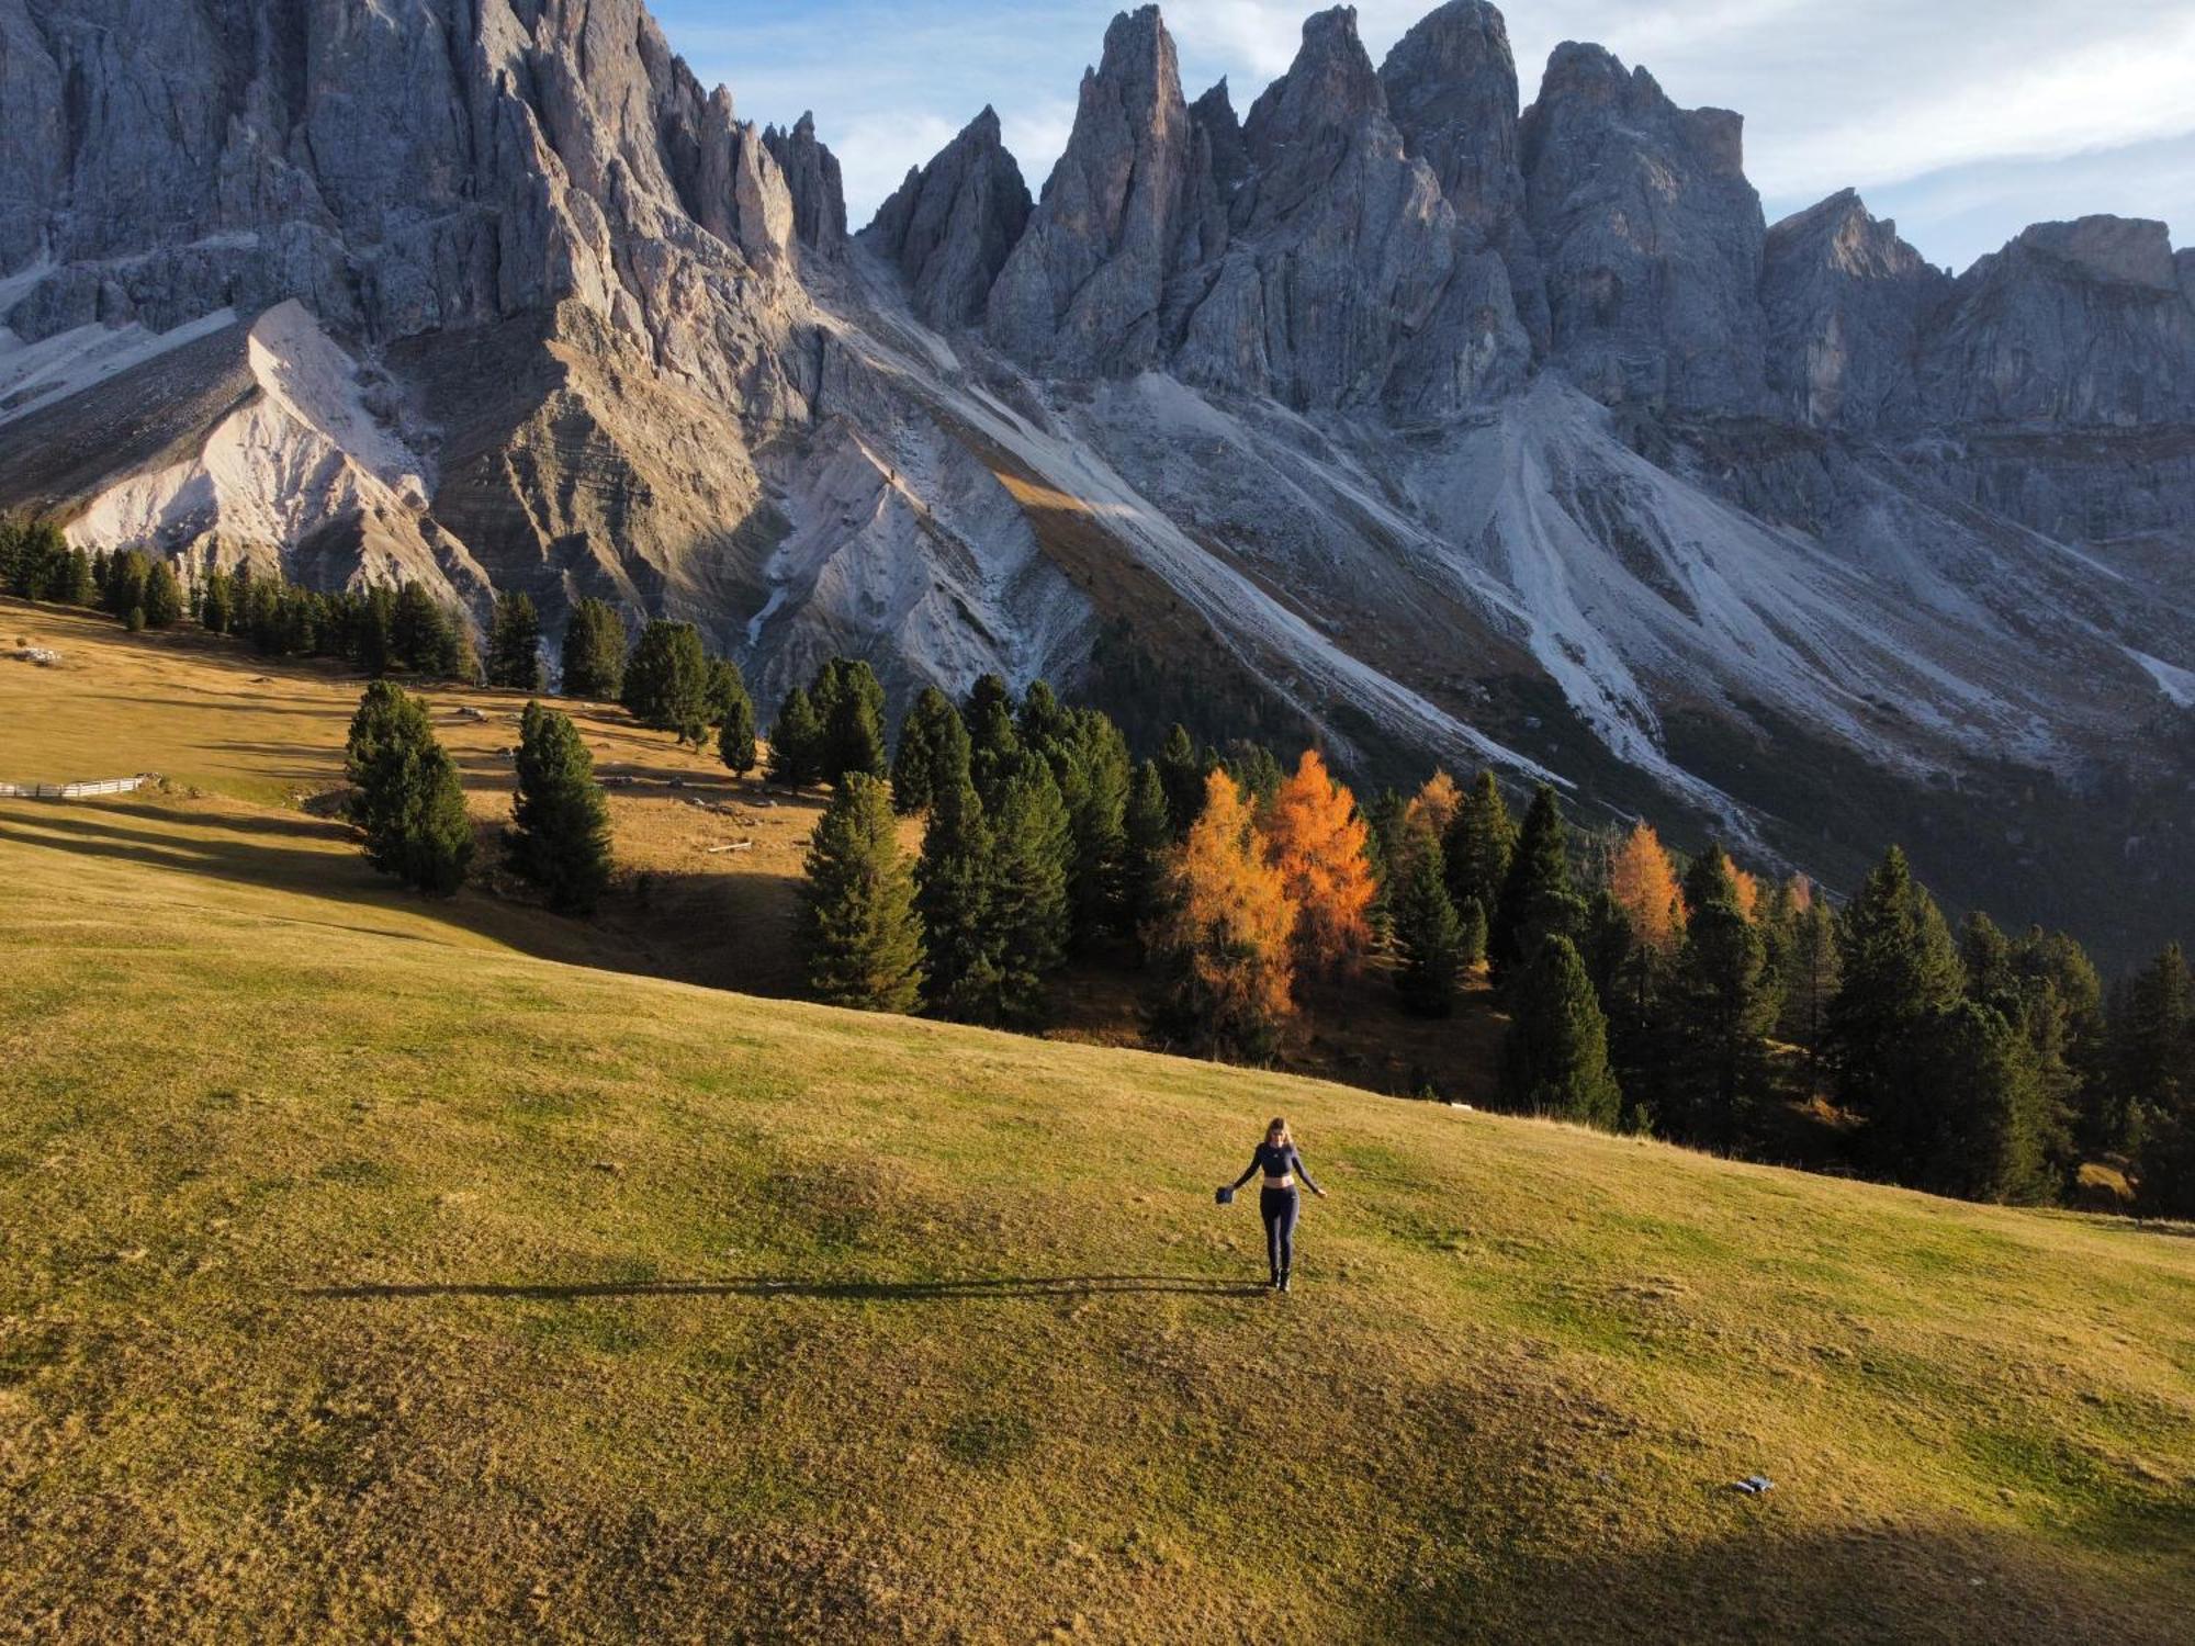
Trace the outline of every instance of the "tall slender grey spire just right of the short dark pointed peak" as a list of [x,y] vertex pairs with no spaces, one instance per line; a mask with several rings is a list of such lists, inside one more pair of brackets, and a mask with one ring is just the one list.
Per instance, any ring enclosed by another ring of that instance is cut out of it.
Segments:
[[1082,77],[1076,127],[990,290],[992,342],[1065,375],[1139,371],[1194,200],[1190,110],[1157,7],[1122,13]]

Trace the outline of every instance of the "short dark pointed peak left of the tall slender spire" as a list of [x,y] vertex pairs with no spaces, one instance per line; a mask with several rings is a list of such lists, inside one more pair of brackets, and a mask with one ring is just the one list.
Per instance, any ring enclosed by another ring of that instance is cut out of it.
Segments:
[[915,312],[953,329],[983,318],[1029,222],[1029,187],[986,108],[887,200],[863,233],[907,277]]

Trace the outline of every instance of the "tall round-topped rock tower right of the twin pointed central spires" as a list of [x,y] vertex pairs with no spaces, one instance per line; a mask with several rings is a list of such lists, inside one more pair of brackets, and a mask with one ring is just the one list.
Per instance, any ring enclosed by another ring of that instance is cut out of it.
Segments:
[[1451,0],[1396,42],[1378,79],[1409,154],[1433,167],[1471,250],[1501,255],[1519,318],[1545,349],[1547,292],[1523,211],[1517,59],[1501,13]]

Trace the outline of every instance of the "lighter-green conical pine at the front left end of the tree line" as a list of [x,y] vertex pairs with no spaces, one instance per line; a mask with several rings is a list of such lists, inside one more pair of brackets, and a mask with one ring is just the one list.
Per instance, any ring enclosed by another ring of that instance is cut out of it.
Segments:
[[922,922],[885,783],[847,773],[817,823],[801,884],[808,988],[825,1005],[913,1012]]

